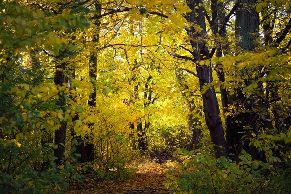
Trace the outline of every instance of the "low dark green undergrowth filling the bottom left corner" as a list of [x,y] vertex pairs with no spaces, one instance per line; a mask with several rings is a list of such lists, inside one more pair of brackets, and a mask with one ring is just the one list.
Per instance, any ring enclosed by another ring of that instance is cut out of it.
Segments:
[[[53,146],[43,150],[29,150],[27,143],[23,143],[20,148],[15,144],[5,147],[3,144],[0,145],[2,156],[0,190],[5,194],[60,193],[72,180],[82,182],[83,177],[78,174],[75,165],[77,161],[76,149],[72,149],[69,153],[71,157],[68,160],[70,162],[63,162],[57,166],[54,162],[56,158],[52,155]],[[29,162],[40,159],[39,152],[45,155],[43,162],[49,164],[46,168],[35,169],[33,163]]]

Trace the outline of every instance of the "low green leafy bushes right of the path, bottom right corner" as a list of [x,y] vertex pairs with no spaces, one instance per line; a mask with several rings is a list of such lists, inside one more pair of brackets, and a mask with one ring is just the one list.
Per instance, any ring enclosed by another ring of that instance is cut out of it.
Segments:
[[244,150],[234,162],[225,157],[193,156],[186,150],[177,150],[182,162],[178,170],[168,170],[166,187],[176,193],[288,193],[290,170],[275,170],[272,165],[258,160]]

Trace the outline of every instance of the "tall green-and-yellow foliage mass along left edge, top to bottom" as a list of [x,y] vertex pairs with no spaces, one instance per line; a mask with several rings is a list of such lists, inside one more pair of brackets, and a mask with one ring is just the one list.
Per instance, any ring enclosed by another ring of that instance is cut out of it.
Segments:
[[40,56],[40,50],[73,50],[53,31],[88,27],[81,11],[55,15],[16,1],[0,2],[1,192],[60,192],[68,180],[81,178],[72,162],[77,161],[76,150],[69,151],[73,157],[67,156],[67,162],[54,162],[53,131],[71,118],[56,105],[65,88],[44,79],[51,76],[47,68],[52,66],[49,58]]

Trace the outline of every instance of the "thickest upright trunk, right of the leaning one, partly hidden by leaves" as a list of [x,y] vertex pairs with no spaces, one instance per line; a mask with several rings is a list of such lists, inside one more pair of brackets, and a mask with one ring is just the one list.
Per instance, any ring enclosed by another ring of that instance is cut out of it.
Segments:
[[[256,12],[254,5],[256,0],[243,0],[239,8],[236,11],[236,39],[238,41],[237,46],[244,51],[253,51],[255,48],[255,39],[258,37],[259,32],[259,14]],[[242,76],[245,71],[240,72]],[[245,84],[250,84],[250,80],[244,80]],[[253,159],[266,161],[264,152],[259,151],[255,146],[250,145],[251,132],[256,135],[259,134],[259,126],[257,124],[257,114],[253,111],[256,106],[254,97],[251,97],[247,103],[245,95],[241,89],[235,90],[233,96],[233,103],[235,106],[244,107],[244,111],[237,116],[232,117],[231,129],[227,130],[228,145],[235,147],[235,160],[238,161],[238,157],[242,149],[246,150],[252,155]],[[248,127],[250,129],[248,129]],[[232,151],[234,151],[232,149]]]

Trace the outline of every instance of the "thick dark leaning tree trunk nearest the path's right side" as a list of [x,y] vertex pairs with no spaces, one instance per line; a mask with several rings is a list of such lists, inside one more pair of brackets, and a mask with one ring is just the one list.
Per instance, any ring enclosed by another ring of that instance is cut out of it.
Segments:
[[[206,42],[203,36],[206,35],[206,24],[204,16],[204,8],[199,4],[203,4],[201,0],[187,0],[187,4],[191,9],[186,19],[190,23],[195,23],[202,29],[196,32],[194,27],[187,29],[190,38],[190,43],[194,49],[193,57],[195,61],[209,59],[209,50],[206,47]],[[211,65],[196,64],[197,75],[199,76],[200,89],[203,99],[203,112],[205,114],[206,125],[210,131],[210,136],[214,144],[215,156],[228,157],[228,148],[224,137],[224,131],[219,113],[218,101],[213,86],[207,86],[213,82]],[[208,89],[203,91],[203,87],[207,86]]]

